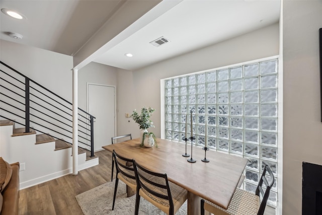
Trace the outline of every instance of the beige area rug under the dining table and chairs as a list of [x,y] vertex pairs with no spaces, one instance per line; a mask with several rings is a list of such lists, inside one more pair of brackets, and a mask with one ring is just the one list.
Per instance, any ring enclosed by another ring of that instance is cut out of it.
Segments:
[[[112,210],[113,194],[114,194],[115,180],[102,184],[84,193],[76,195],[77,202],[81,206],[85,215],[99,215],[99,214],[129,214],[133,215],[135,211],[135,196],[126,197],[126,185],[119,180],[117,188],[116,200],[114,210]],[[158,215],[165,214],[162,210],[140,198],[140,215]],[[177,211],[176,215],[187,214],[187,201]]]

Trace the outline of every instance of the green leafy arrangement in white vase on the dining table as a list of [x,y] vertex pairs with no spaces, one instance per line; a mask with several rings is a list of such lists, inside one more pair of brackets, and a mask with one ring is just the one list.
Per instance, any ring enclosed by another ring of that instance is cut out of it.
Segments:
[[153,122],[150,120],[150,117],[154,111],[155,109],[151,107],[142,107],[140,115],[136,112],[136,110],[134,110],[130,116],[137,124],[139,124],[140,129],[144,129],[142,134],[142,142],[140,144],[141,147],[143,146],[145,135],[152,137],[154,139],[154,146],[157,147],[154,133],[146,130],[149,127],[154,127]]

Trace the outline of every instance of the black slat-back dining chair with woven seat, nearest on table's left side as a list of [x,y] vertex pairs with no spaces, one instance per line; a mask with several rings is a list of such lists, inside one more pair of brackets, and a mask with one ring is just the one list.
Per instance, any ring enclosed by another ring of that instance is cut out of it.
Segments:
[[149,171],[134,161],[137,184],[135,215],[140,196],[169,215],[173,215],[188,198],[188,191],[168,180],[167,174]]

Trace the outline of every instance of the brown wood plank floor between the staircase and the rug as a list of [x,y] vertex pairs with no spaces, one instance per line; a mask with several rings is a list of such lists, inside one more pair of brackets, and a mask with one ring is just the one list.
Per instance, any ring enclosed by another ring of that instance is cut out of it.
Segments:
[[[99,156],[99,165],[95,167],[20,190],[19,214],[82,215],[75,196],[111,180],[111,153],[103,150],[95,154]],[[265,215],[273,214],[275,210],[266,207]]]

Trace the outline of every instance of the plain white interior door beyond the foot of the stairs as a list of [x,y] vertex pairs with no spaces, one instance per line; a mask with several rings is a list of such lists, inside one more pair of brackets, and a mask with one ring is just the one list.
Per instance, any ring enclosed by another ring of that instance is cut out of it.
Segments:
[[94,151],[111,144],[115,134],[115,87],[88,84],[89,113],[94,119]]

